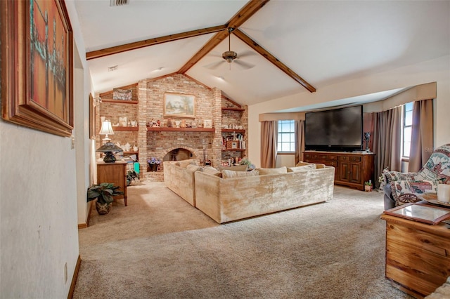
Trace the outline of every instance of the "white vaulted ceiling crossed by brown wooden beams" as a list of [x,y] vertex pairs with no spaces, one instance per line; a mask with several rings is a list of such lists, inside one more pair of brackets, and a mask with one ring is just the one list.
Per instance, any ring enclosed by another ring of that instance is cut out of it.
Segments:
[[[449,3],[75,0],[75,7],[96,91],[180,73],[252,105],[449,55]],[[238,54],[231,63],[221,57],[229,47]]]

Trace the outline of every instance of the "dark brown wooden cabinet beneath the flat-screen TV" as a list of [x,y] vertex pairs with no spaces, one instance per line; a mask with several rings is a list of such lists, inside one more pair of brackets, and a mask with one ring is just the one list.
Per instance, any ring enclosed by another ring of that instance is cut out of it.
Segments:
[[304,161],[333,166],[335,184],[364,190],[364,182],[372,180],[375,154],[371,152],[305,151]]

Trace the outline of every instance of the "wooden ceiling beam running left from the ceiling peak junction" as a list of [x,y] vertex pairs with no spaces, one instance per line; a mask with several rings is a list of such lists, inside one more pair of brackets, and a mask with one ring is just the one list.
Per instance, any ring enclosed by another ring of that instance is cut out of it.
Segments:
[[226,29],[226,25],[219,25],[214,27],[208,27],[203,29],[196,29],[188,32],[182,32],[177,34],[169,34],[166,36],[155,37],[154,39],[146,39],[143,41],[135,41],[134,43],[124,44],[120,46],[114,46],[110,48],[104,48],[101,50],[86,52],[86,60],[95,58],[102,58],[108,55],[122,53],[126,51],[136,50],[148,46],[154,46],[158,44],[167,43],[169,41],[178,41],[179,39],[187,39],[188,37],[195,37],[204,34],[210,34],[214,32],[221,32]]

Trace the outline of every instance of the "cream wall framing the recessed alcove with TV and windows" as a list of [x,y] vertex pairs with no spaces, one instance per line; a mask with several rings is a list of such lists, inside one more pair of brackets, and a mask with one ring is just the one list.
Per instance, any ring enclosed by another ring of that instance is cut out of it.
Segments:
[[261,165],[259,145],[261,144],[261,126],[259,114],[275,110],[289,109],[301,105],[312,105],[316,102],[329,102],[356,95],[388,91],[395,88],[416,86],[429,82],[437,82],[437,98],[435,100],[435,147],[450,142],[450,55],[435,60],[421,62],[383,72],[352,81],[341,82],[331,86],[317,88],[316,93],[304,91],[285,98],[278,98],[248,107],[248,154],[249,159],[257,167]]

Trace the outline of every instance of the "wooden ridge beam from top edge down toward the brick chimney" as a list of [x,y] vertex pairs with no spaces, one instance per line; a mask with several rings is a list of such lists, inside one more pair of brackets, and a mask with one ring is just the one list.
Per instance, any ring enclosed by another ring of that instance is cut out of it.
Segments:
[[[251,0],[248,1],[247,4],[243,8],[236,13],[236,15],[233,15],[233,17],[226,22],[225,29],[228,27],[231,28],[238,28],[240,25],[242,25],[246,20],[248,20],[252,15],[254,15],[259,9],[261,9],[266,3],[269,2],[269,0]],[[205,46],[203,46],[193,57],[186,62],[185,65],[179,69],[179,74],[186,73],[195,63],[199,62],[200,59],[205,57],[207,53],[210,53],[213,48],[215,48],[218,44],[220,44],[221,41],[226,39],[228,36],[228,31],[224,30],[223,32],[217,32],[212,38],[207,41]]]

